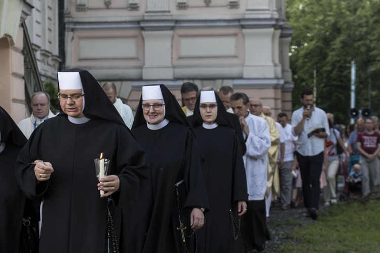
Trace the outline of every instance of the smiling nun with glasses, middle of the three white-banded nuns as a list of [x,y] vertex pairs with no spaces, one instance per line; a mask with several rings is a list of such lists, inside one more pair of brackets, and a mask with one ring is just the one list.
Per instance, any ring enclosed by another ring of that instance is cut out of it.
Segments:
[[154,201],[143,252],[192,252],[188,236],[209,209],[202,158],[191,124],[164,85],[142,87],[132,132],[146,150]]

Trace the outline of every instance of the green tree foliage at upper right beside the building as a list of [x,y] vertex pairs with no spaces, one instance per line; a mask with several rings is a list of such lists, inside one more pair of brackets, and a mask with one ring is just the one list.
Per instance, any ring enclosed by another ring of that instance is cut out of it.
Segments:
[[[351,61],[356,63],[356,108],[379,114],[380,0],[287,0],[293,27],[290,63],[293,108],[299,92],[312,88],[316,71],[317,106],[348,123]],[[369,83],[371,92],[369,93]]]

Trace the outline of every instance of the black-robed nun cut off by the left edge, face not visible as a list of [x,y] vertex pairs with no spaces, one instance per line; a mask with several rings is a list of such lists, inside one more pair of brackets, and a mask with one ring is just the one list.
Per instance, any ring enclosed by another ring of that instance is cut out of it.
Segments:
[[0,195],[0,252],[19,253],[25,196],[15,178],[15,164],[26,141],[11,116],[0,107],[0,183],[5,189]]

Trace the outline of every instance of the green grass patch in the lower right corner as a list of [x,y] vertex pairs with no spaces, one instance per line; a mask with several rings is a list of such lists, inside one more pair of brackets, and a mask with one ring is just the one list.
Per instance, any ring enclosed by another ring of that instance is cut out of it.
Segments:
[[279,252],[379,252],[380,201],[342,203],[292,231]]

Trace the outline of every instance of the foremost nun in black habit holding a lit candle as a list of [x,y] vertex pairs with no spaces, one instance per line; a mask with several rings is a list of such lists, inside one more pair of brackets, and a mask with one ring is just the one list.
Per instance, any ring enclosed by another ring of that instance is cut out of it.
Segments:
[[[111,210],[137,201],[145,152],[87,70],[58,72],[58,88],[60,113],[35,129],[16,164],[23,192],[43,201],[40,252],[112,251],[107,197]],[[100,153],[110,164],[98,179]]]

